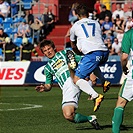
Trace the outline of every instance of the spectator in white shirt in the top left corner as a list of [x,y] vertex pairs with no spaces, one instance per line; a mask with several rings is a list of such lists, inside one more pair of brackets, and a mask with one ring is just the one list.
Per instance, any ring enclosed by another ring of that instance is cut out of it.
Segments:
[[4,19],[10,14],[10,5],[5,0],[0,0],[0,17]]

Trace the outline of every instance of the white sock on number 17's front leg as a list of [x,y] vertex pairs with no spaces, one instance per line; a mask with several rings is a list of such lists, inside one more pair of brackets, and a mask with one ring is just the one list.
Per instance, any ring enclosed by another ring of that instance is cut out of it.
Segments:
[[92,99],[95,99],[96,97],[98,97],[98,93],[88,84],[86,80],[79,79],[76,82],[76,85],[79,86],[80,90],[90,95]]

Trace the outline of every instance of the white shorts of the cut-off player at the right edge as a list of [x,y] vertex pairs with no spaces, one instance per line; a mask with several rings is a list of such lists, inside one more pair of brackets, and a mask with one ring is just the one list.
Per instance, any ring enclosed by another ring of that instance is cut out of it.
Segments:
[[119,92],[119,96],[126,99],[127,101],[133,100],[133,78],[132,78],[132,71],[131,70],[127,78],[124,80],[122,87]]

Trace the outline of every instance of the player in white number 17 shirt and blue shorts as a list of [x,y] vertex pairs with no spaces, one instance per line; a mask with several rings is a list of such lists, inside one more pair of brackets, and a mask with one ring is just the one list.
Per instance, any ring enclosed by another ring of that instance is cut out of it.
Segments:
[[105,93],[110,87],[110,82],[103,77],[99,66],[107,61],[109,51],[102,40],[100,25],[97,21],[88,18],[88,8],[85,5],[79,5],[76,13],[79,21],[70,29],[71,46],[75,52],[75,48],[78,48],[84,56],[76,69],[74,83],[80,89],[89,88],[89,84],[83,79],[94,72],[101,80]]

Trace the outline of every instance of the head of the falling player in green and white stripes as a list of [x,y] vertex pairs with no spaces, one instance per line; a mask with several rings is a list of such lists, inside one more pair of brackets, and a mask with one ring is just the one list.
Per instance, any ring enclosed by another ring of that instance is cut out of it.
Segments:
[[56,48],[52,40],[44,39],[39,43],[40,50],[48,57],[53,58],[56,53]]

